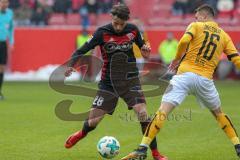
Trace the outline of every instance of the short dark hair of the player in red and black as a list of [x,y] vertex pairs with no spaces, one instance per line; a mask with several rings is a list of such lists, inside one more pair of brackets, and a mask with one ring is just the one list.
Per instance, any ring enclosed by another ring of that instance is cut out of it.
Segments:
[[125,4],[116,4],[112,7],[111,14],[126,21],[129,19],[130,10]]

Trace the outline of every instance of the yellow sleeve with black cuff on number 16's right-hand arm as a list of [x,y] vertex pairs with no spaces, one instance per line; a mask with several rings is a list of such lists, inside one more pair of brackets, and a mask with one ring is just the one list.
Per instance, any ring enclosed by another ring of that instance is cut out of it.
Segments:
[[234,65],[240,69],[240,55],[236,49],[236,47],[233,44],[233,41],[231,38],[227,35],[226,38],[226,46],[223,51],[226,55],[229,61],[232,61]]

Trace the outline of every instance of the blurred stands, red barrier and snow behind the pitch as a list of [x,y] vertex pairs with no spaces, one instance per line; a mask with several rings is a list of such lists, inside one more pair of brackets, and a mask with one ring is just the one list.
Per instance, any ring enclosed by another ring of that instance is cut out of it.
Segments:
[[[132,19],[142,21],[152,47],[150,61],[161,62],[158,47],[167,32],[179,39],[194,21],[194,9],[202,3],[216,8],[217,21],[240,48],[239,0],[10,0],[16,43],[5,78],[47,80],[53,68],[67,61],[76,49],[77,36],[84,29],[91,34],[108,23],[111,6],[118,2],[130,7]],[[93,52],[99,56],[98,49]],[[231,64],[224,63],[221,70],[222,75],[216,77],[239,79],[239,71]]]

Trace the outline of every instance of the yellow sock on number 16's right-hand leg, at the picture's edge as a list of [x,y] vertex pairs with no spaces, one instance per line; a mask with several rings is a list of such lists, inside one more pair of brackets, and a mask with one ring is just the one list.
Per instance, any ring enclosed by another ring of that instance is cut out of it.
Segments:
[[217,121],[218,121],[220,127],[223,129],[223,131],[228,136],[228,138],[231,140],[231,142],[234,145],[240,144],[237,132],[236,132],[235,128],[233,127],[233,124],[232,124],[231,120],[228,118],[228,116],[223,113],[219,114],[219,115],[217,115]]

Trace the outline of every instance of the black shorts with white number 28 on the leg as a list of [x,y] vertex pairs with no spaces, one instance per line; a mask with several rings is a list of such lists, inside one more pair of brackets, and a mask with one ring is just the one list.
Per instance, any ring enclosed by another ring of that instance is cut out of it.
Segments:
[[114,86],[100,82],[98,87],[92,107],[107,111],[108,114],[113,114],[119,97],[125,101],[129,110],[136,104],[146,103],[138,78],[119,81]]

